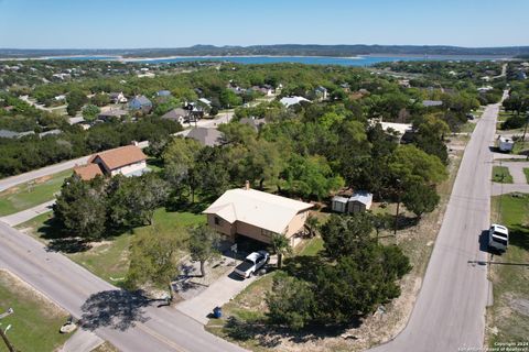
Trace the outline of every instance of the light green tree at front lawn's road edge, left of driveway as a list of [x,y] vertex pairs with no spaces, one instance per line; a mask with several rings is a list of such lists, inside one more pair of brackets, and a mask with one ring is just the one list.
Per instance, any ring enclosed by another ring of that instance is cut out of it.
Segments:
[[179,275],[177,252],[182,249],[183,230],[159,231],[153,227],[137,233],[130,243],[130,266],[127,284],[139,287],[145,284],[169,286],[170,300],[173,298],[171,283]]

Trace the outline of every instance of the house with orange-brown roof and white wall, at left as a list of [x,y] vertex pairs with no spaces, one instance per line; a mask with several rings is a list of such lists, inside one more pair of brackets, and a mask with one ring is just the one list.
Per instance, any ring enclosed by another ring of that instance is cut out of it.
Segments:
[[149,172],[147,155],[136,145],[120,146],[94,154],[87,165],[74,167],[74,173],[88,180],[97,175],[140,176]]

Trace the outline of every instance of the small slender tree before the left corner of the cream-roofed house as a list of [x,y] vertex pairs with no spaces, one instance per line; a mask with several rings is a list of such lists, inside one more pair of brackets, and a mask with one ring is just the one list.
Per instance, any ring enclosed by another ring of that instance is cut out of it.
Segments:
[[204,264],[220,256],[218,244],[220,237],[207,224],[202,224],[191,230],[187,242],[192,260],[201,263],[201,274],[206,276]]

